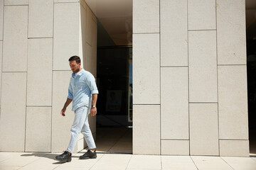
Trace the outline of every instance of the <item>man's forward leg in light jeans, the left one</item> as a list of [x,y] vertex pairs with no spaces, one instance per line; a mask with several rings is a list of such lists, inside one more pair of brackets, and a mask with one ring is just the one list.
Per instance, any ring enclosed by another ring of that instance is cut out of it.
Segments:
[[78,142],[78,136],[82,130],[82,126],[85,123],[85,119],[87,117],[86,113],[87,113],[87,106],[82,106],[75,110],[75,119],[70,130],[71,132],[70,143],[67,148],[67,151],[70,152],[71,154],[73,153],[75,145]]

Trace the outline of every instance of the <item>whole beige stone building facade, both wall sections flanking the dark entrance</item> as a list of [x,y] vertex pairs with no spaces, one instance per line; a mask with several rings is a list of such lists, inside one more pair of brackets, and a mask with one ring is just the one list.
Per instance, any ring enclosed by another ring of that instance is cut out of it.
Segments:
[[[73,113],[60,116],[68,58],[79,55],[97,76],[90,2],[0,1],[2,152],[68,145]],[[134,0],[132,8],[133,154],[248,157],[245,0]],[[90,126],[96,137],[95,118]],[[85,145],[81,135],[76,150]]]

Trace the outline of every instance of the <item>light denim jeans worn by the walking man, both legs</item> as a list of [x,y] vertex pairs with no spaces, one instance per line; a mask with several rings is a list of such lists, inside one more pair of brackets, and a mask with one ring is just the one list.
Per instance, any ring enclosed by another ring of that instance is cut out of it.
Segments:
[[90,114],[90,108],[87,106],[81,106],[75,110],[75,119],[71,127],[71,138],[67,151],[73,153],[75,144],[78,142],[78,136],[80,132],[85,137],[88,149],[96,148],[95,141],[92,137],[92,132],[88,123],[88,115]]

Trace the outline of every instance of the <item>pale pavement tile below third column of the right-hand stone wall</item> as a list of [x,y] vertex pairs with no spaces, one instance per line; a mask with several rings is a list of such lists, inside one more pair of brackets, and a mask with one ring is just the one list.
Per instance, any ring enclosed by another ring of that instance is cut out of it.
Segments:
[[201,157],[191,156],[193,162],[196,164],[198,169],[206,170],[233,170],[228,164],[226,164],[220,157]]

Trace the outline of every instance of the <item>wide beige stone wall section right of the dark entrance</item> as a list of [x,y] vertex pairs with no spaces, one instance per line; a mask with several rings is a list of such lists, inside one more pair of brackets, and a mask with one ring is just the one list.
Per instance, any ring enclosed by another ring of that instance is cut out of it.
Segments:
[[133,10],[133,154],[248,157],[245,1]]

